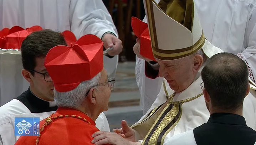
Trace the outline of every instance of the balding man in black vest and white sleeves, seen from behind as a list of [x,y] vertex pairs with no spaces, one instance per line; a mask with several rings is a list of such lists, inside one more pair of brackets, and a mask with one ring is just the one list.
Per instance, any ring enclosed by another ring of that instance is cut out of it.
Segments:
[[250,91],[244,61],[231,53],[216,54],[208,59],[201,76],[208,122],[173,136],[164,145],[256,145],[256,131],[242,117],[244,98]]

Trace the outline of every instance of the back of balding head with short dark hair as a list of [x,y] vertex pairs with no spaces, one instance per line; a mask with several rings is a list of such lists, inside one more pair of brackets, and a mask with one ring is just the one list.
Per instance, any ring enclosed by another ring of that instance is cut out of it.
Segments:
[[239,57],[216,54],[208,59],[201,76],[213,107],[235,110],[242,106],[249,83],[247,66]]

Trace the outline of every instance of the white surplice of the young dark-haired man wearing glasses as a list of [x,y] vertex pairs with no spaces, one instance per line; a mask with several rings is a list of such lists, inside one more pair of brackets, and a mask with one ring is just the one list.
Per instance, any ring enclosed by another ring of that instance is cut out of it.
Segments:
[[[15,136],[15,117],[39,117],[40,121],[49,117],[51,112],[31,113],[19,100],[13,99],[0,107],[0,145],[14,145],[20,136]],[[108,120],[102,112],[95,121],[99,130],[110,131]],[[86,130],[86,128],[85,128]]]

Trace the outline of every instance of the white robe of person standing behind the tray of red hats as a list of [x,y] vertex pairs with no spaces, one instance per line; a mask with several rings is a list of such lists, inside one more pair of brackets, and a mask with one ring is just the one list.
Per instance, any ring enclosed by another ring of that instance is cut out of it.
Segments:
[[[28,28],[35,25],[58,32],[70,30],[77,39],[85,34],[95,34],[102,38],[106,32],[118,36],[112,17],[102,0],[0,0],[0,30],[6,27]],[[104,68],[109,77],[115,77],[117,63],[118,55],[114,58],[104,56]],[[0,106],[16,98],[17,94],[29,87],[22,75],[16,75],[17,72],[21,73],[21,70],[12,72],[8,66],[5,67],[1,69],[6,71],[1,70],[0,74]],[[20,78],[15,81],[14,77]],[[20,86],[23,89],[15,89]]]

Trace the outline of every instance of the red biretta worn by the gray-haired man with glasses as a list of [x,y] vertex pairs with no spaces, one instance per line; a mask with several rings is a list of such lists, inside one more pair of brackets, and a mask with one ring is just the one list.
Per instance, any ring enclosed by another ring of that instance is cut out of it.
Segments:
[[46,55],[45,68],[50,74],[55,90],[67,92],[82,81],[90,80],[103,69],[103,42],[88,34],[70,47],[58,45]]

